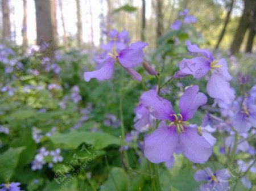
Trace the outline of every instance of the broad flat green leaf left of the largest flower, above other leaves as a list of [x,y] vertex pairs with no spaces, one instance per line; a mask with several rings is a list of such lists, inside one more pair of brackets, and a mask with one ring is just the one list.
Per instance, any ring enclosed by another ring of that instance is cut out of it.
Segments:
[[70,133],[61,134],[59,132],[54,133],[49,139],[65,149],[75,149],[81,143],[89,142],[95,148],[101,149],[109,145],[119,145],[120,141],[117,137],[103,132],[91,132],[91,131],[72,131]]

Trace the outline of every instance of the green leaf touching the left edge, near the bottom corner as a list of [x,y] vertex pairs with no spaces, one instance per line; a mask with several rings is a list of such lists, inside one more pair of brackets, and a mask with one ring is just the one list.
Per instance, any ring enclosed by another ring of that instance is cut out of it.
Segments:
[[0,182],[9,182],[25,147],[9,148],[0,155]]

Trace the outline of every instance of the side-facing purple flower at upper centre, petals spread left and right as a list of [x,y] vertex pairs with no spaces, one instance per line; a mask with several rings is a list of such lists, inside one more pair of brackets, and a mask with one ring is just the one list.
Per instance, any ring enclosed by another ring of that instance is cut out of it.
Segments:
[[96,78],[98,80],[110,79],[114,73],[114,63],[117,61],[134,80],[141,82],[142,77],[132,67],[138,66],[143,62],[144,54],[142,49],[147,46],[147,43],[138,41],[131,44],[130,47],[122,49],[120,52],[113,49],[113,53],[109,53],[108,56],[101,60],[104,65],[99,70],[86,71],[84,73],[84,79],[89,82],[90,79]]

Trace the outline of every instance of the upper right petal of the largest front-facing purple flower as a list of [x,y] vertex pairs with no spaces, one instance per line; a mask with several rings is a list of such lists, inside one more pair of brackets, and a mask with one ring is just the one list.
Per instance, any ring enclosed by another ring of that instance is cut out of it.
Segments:
[[180,114],[183,116],[184,121],[192,118],[197,109],[207,103],[207,96],[198,91],[199,87],[195,85],[187,88],[180,97]]

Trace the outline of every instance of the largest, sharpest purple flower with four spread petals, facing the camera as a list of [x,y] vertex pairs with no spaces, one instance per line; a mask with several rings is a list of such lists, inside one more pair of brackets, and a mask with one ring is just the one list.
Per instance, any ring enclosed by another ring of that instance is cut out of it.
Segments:
[[198,86],[185,90],[180,97],[179,114],[174,113],[170,101],[159,97],[154,90],[144,92],[141,96],[142,104],[152,116],[158,120],[171,121],[170,125],[160,126],[145,139],[144,155],[152,163],[169,161],[177,147],[194,163],[204,163],[212,154],[212,145],[187,122],[197,108],[207,103],[207,97],[198,91]]

